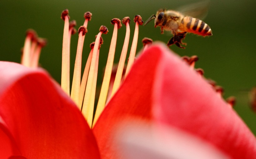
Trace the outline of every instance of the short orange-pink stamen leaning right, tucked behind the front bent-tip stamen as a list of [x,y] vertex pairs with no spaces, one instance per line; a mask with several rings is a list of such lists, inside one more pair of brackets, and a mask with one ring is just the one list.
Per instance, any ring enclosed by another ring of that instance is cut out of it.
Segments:
[[86,82],[87,82],[87,77],[88,77],[88,73],[89,73],[89,69],[90,69],[90,65],[91,65],[91,57],[92,57],[92,52],[93,52],[93,47],[94,47],[94,43],[90,44],[91,47],[91,52],[89,53],[86,65],[85,65],[85,69],[84,69],[84,74],[82,77],[82,81],[81,81],[81,85],[80,85],[80,91],[79,91],[79,109],[82,109],[82,104],[83,104],[83,99],[84,99],[84,93],[85,93],[85,87],[86,87]]

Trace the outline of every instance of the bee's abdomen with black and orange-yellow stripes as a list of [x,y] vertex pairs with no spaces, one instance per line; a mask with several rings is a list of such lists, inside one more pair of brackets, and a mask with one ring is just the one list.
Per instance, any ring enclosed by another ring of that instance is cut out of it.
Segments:
[[212,30],[209,27],[209,25],[204,23],[202,20],[187,17],[187,16],[184,17],[183,20],[181,21],[179,30],[202,35],[202,36],[212,35]]

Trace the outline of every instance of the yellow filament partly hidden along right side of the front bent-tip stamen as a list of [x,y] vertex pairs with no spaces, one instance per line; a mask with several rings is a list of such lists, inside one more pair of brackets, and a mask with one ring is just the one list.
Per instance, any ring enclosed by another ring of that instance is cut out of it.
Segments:
[[92,83],[91,100],[90,100],[90,106],[89,106],[88,118],[87,118],[87,123],[88,123],[90,128],[91,128],[91,125],[92,125],[93,110],[94,110],[95,92],[96,92],[97,75],[98,75],[98,64],[99,64],[99,53],[100,53],[100,50],[98,49],[96,65],[95,65],[94,79],[93,79],[93,83]]

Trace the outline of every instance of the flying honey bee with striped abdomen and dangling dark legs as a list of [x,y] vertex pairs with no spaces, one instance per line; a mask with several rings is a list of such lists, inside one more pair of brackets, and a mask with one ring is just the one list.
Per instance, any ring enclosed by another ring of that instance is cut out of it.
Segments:
[[[188,7],[192,8],[191,13],[198,15],[200,14],[201,10],[205,11],[205,7],[202,7],[202,4],[205,4],[205,2],[192,4]],[[195,7],[196,5],[199,5],[198,11]],[[188,13],[188,11],[186,12]],[[167,43],[168,47],[175,44],[180,48],[185,48],[182,47],[181,44],[186,45],[186,43],[182,42],[182,39],[185,38],[187,33],[193,33],[201,36],[212,35],[211,28],[204,21],[191,16],[186,16],[178,11],[160,9],[156,12],[156,15],[152,15],[148,20],[146,20],[144,25],[153,19],[155,19],[155,28],[157,26],[161,27],[161,34],[164,33],[164,30],[170,31],[173,34],[173,37]]]

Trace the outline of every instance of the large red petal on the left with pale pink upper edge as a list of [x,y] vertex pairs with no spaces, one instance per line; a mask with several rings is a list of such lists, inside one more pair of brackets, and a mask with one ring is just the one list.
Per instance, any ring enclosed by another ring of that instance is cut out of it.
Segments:
[[43,70],[0,62],[0,72],[0,116],[22,156],[99,158],[81,112]]

